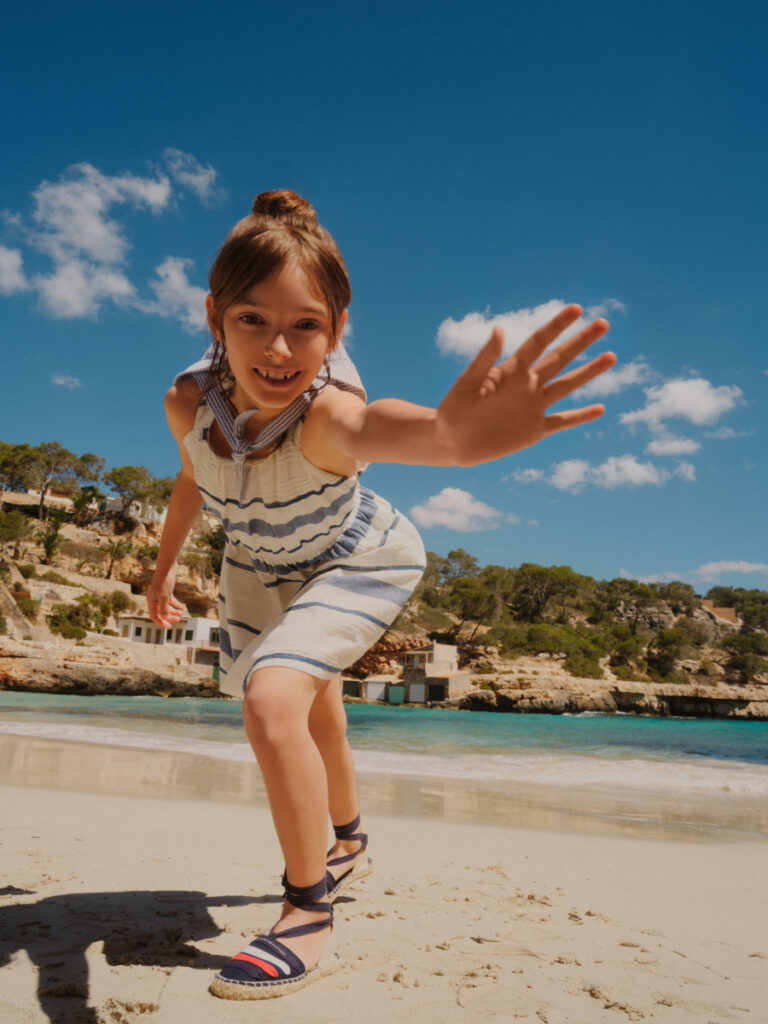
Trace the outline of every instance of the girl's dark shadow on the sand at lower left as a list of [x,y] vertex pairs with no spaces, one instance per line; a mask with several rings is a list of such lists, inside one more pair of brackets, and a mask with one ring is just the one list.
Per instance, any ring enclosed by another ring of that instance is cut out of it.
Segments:
[[[3,897],[28,897],[7,886]],[[221,932],[214,906],[281,903],[281,896],[207,896],[202,892],[68,893],[0,905],[0,967],[26,950],[39,970],[38,998],[51,1024],[100,1024],[88,1001],[86,949],[103,942],[108,964],[200,967],[228,959],[195,946]]]

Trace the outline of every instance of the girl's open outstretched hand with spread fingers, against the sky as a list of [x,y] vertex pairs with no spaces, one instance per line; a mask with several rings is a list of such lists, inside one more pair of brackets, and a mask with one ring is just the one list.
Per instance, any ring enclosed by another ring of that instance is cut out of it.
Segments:
[[494,328],[490,339],[459,377],[437,408],[437,435],[462,466],[500,459],[536,444],[547,434],[589,423],[605,412],[586,406],[547,413],[550,406],[604,373],[615,364],[604,352],[584,366],[557,375],[608,330],[604,319],[593,321],[572,338],[543,353],[582,314],[566,306],[540,328],[509,358],[502,354],[504,332]]

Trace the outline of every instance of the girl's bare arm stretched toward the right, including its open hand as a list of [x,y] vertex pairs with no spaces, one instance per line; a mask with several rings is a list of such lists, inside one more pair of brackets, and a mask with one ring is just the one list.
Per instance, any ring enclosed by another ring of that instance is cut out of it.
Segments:
[[474,466],[536,444],[557,430],[597,419],[604,412],[602,406],[547,414],[554,402],[615,362],[612,352],[605,352],[557,376],[608,330],[604,319],[594,321],[545,355],[581,313],[580,306],[567,306],[498,365],[504,335],[501,328],[495,328],[490,340],[437,409],[395,398],[364,406],[352,395],[336,391],[322,400],[321,394],[302,434],[307,458],[315,462],[324,449],[331,449],[358,462]]

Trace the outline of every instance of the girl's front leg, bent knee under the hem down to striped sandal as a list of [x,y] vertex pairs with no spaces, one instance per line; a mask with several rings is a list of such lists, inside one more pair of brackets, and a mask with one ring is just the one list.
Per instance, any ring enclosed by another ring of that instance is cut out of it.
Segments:
[[[243,701],[246,733],[264,778],[288,878],[295,886],[310,886],[326,876],[328,781],[309,731],[312,701],[324,682],[294,669],[259,669]],[[286,902],[281,921],[292,928],[322,916]],[[311,968],[328,937],[324,929],[286,939],[285,945]]]

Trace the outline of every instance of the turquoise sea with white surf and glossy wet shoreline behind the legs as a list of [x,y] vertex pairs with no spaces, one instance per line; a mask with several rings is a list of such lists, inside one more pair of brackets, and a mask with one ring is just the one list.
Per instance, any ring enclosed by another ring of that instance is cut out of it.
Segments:
[[[768,722],[346,710],[361,796],[382,804],[390,794],[385,812],[768,838]],[[240,703],[210,698],[0,691],[0,781],[18,781],[6,750],[13,737],[38,748],[165,752],[221,769],[250,771],[254,760]]]

